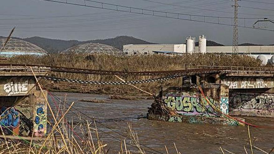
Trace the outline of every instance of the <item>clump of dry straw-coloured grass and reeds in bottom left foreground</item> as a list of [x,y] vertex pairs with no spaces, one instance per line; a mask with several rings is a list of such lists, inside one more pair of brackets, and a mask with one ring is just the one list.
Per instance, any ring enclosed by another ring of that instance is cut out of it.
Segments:
[[[62,110],[62,109],[60,109]],[[66,112],[62,112],[66,114]],[[56,115],[55,115],[56,116]],[[58,116],[56,116],[58,118]],[[98,132],[97,129],[92,127],[92,123],[86,121],[86,124],[79,122],[78,124],[70,125],[71,128],[79,128],[79,136],[83,138],[83,141],[72,132],[67,124],[66,119],[58,118],[61,120],[59,127],[54,127],[55,124],[51,125],[52,130],[47,133],[47,140],[43,141],[32,141],[30,140],[12,140],[4,139],[0,144],[0,153],[4,154],[44,154],[44,153],[92,153],[92,154],[104,154],[106,150],[106,144],[103,144],[99,138],[96,138]],[[63,139],[60,139],[61,136]],[[94,138],[95,136],[95,138]]]

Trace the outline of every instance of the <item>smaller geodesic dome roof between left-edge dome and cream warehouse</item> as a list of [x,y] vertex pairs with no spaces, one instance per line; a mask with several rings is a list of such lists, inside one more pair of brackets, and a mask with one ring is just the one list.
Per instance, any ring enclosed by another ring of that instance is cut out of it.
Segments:
[[123,54],[123,52],[117,48],[110,45],[99,44],[99,43],[87,43],[73,46],[66,49],[64,53],[77,53],[77,54],[92,54],[92,53],[102,53],[102,54]]

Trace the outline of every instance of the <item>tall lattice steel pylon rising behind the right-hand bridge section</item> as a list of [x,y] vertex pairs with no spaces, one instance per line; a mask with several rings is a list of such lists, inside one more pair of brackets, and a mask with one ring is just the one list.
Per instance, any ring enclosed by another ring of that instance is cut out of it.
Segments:
[[234,54],[237,54],[239,52],[239,47],[238,47],[238,1],[239,0],[234,0],[234,27],[233,27],[233,49],[232,52]]

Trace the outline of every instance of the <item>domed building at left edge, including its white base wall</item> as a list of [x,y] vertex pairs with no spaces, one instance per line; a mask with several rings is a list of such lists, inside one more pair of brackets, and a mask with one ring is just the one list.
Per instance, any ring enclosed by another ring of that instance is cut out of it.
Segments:
[[10,39],[5,47],[3,45],[6,42],[6,38],[2,38],[0,40],[0,55],[2,56],[15,56],[15,55],[36,55],[36,56],[43,56],[47,55],[48,53],[40,48],[39,46],[32,44],[27,41],[17,40],[17,39]]

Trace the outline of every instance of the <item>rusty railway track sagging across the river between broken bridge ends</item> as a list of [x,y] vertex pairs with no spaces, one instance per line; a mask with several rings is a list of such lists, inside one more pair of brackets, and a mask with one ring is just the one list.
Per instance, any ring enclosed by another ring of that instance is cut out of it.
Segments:
[[[68,68],[68,67],[47,66],[47,65],[0,63],[0,68],[1,67],[2,68],[3,67],[4,68],[38,67],[38,68],[47,68],[51,72],[100,74],[100,75],[157,76],[157,75],[194,75],[194,74],[205,74],[205,73],[239,73],[239,72],[274,74],[274,69],[272,68],[251,68],[251,67],[235,67],[235,66],[196,66],[196,68],[194,69],[192,68],[192,69],[182,69],[182,70],[172,70],[172,71],[142,71],[142,72],[92,70],[92,69]],[[9,69],[6,69],[6,70],[9,70]]]

